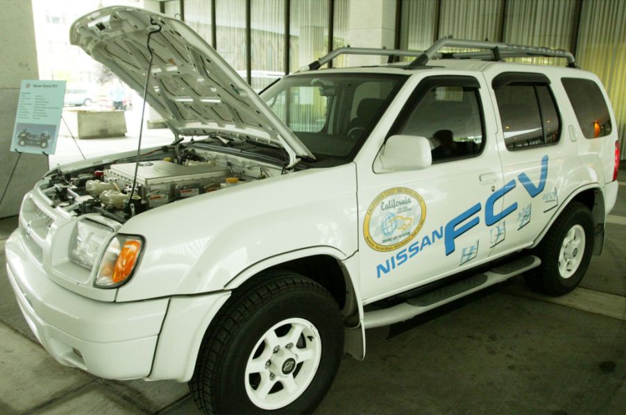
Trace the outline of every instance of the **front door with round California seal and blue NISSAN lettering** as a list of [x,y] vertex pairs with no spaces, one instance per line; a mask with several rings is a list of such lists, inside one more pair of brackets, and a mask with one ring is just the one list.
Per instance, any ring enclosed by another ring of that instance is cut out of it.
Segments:
[[501,187],[502,171],[484,102],[484,79],[423,78],[387,137],[426,137],[432,165],[384,171],[375,161],[373,169],[359,170],[359,257],[367,302],[487,260],[491,235],[483,204]]

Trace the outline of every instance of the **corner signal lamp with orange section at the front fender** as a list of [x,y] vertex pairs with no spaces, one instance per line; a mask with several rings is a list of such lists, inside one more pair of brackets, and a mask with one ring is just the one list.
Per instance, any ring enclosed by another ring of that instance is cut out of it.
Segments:
[[106,248],[94,285],[100,288],[115,288],[133,276],[139,262],[143,240],[140,237],[116,235]]

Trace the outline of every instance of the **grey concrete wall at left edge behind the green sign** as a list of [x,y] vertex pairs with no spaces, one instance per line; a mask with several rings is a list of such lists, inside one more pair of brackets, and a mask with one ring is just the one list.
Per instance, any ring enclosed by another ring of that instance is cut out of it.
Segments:
[[0,217],[17,214],[22,196],[48,169],[45,155],[22,154],[15,168],[17,153],[10,142],[15,124],[19,85],[22,79],[38,79],[37,51],[31,1],[2,0],[0,14]]

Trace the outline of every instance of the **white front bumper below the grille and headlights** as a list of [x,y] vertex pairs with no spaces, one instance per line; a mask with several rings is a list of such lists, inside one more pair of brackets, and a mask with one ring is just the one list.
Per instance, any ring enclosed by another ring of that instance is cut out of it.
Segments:
[[22,314],[58,362],[108,379],[151,373],[168,298],[92,300],[52,282],[26,253],[18,231],[5,249],[8,278]]

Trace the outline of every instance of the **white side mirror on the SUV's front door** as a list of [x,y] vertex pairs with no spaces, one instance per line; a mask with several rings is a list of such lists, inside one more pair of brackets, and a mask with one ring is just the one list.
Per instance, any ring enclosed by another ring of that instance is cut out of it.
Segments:
[[382,168],[394,171],[420,170],[430,167],[430,142],[418,135],[392,135],[380,153]]

